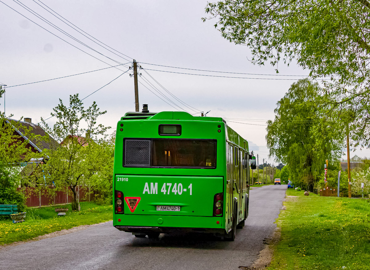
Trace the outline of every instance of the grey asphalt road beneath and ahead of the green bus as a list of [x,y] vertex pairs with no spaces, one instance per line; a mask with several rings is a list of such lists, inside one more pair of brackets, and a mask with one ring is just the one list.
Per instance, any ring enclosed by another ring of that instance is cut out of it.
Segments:
[[0,269],[238,269],[250,266],[271,237],[286,185],[250,191],[249,217],[234,242],[203,235],[136,238],[112,222],[53,238],[9,246],[0,251]]

